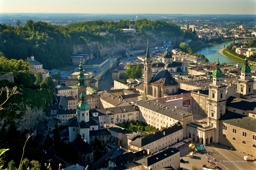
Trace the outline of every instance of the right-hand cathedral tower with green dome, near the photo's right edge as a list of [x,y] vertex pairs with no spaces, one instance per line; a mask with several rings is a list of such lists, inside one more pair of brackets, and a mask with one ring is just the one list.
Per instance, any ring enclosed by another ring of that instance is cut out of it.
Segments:
[[253,79],[251,79],[251,68],[248,65],[248,59],[246,57],[237,84],[237,92],[241,94],[241,98],[253,100],[253,82]]

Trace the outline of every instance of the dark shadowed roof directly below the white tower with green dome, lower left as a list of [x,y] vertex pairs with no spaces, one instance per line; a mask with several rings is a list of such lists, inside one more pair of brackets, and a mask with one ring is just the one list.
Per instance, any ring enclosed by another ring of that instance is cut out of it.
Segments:
[[93,152],[89,143],[80,134],[76,136],[73,145],[79,153],[86,154]]

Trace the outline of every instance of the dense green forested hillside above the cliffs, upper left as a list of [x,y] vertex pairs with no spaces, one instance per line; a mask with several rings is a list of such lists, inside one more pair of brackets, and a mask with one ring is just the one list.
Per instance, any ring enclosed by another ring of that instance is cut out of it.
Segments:
[[[165,31],[175,36],[183,35],[180,27],[172,23],[143,19],[131,24],[140,32]],[[99,36],[100,31],[109,30],[120,41],[127,38],[122,36],[122,28],[129,28],[127,21],[91,21],[67,26],[49,25],[41,21],[34,23],[32,20],[27,21],[24,27],[0,24],[0,50],[8,59],[18,60],[25,60],[33,53],[36,60],[44,64],[44,68],[52,69],[71,63],[74,45],[86,44],[86,40],[107,41]]]

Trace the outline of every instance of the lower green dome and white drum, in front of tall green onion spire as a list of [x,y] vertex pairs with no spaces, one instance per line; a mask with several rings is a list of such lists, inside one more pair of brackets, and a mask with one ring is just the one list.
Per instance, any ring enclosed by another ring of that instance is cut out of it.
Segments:
[[80,99],[81,101],[76,106],[76,116],[78,122],[88,122],[89,121],[89,105],[85,101],[86,95],[84,94],[84,91],[82,89]]

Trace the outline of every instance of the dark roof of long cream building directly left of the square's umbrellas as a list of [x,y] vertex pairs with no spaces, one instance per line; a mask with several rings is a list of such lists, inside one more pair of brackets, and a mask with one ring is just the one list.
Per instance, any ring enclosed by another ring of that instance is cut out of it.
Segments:
[[[163,138],[164,136],[167,136],[169,134],[172,134],[178,130],[181,130],[183,129],[181,124],[178,123],[178,124],[175,124],[174,126],[172,127],[169,127],[169,128],[166,128],[166,129],[163,129],[162,131],[158,131],[156,132],[155,134],[151,134],[149,136],[146,136],[146,137],[141,137],[141,136],[136,136],[131,142],[130,144],[133,145],[133,146],[137,146],[137,147],[143,147],[149,143],[152,143],[158,139],[161,139]],[[164,131],[165,131],[165,135],[164,135]]]

